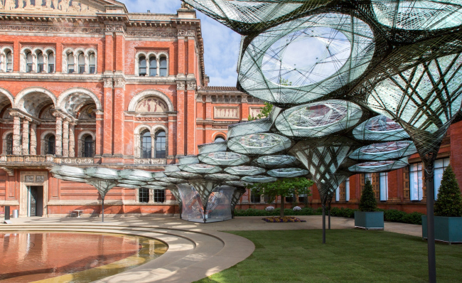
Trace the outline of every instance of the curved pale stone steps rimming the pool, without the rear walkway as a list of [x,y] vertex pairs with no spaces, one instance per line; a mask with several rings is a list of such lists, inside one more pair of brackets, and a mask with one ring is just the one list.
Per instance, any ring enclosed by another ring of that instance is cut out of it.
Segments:
[[[170,218],[171,219],[171,218]],[[0,231],[78,231],[152,237],[168,244],[156,260],[97,282],[193,282],[245,260],[254,252],[250,240],[214,230],[184,230],[146,223],[102,223],[89,218],[19,218]],[[134,221],[137,222],[137,221]],[[71,242],[72,243],[72,242]]]

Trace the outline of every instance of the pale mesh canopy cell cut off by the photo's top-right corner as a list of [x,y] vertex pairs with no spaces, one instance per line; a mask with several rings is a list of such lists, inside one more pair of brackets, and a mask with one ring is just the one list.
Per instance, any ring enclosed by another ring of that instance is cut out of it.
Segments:
[[384,26],[407,31],[432,31],[462,24],[461,1],[372,0],[372,11]]

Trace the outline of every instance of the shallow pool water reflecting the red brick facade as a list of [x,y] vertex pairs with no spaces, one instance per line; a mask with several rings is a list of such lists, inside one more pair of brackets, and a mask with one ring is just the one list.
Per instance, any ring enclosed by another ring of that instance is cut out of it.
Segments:
[[97,233],[0,233],[0,282],[92,282],[163,255],[158,240]]

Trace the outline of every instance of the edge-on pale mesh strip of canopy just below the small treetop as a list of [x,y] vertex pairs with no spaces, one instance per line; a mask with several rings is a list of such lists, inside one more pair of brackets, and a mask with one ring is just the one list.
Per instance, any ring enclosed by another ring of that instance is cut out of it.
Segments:
[[231,139],[232,137],[240,137],[246,134],[269,132],[280,112],[281,108],[273,106],[272,112],[266,118],[232,124],[228,126],[227,137]]

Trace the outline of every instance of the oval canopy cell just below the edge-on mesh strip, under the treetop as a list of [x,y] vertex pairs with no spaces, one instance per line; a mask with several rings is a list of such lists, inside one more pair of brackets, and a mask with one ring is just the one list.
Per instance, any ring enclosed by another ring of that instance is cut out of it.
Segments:
[[291,140],[279,134],[260,133],[235,137],[228,141],[228,148],[240,154],[274,154],[291,146]]

